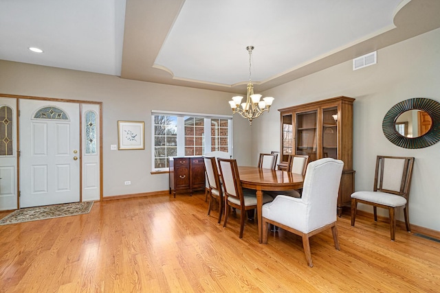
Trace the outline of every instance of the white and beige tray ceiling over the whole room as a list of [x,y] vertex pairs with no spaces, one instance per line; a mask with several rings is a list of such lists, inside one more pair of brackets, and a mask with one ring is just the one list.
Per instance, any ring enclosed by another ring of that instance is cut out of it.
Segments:
[[239,93],[248,45],[264,91],[438,27],[439,0],[0,0],[0,59]]

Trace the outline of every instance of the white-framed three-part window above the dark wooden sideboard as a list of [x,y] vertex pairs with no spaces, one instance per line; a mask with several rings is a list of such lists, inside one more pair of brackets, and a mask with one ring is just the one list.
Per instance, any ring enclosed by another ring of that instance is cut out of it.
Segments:
[[170,156],[232,154],[232,117],[153,111],[151,121],[154,172],[168,171]]

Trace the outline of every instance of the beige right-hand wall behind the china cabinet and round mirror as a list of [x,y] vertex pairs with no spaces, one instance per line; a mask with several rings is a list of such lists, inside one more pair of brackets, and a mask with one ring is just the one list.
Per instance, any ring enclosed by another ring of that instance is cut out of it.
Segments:
[[[354,97],[355,190],[373,190],[378,154],[414,156],[410,222],[440,231],[440,143],[407,150],[393,145],[382,132],[384,115],[398,102],[412,97],[440,102],[440,29],[381,49],[377,62],[357,71],[351,61],[344,62],[265,92],[276,98],[274,110],[252,125],[254,152],[279,148],[279,130],[273,131],[279,128],[276,109],[339,95]],[[359,208],[373,212],[372,207]],[[398,218],[404,220],[401,211]]]

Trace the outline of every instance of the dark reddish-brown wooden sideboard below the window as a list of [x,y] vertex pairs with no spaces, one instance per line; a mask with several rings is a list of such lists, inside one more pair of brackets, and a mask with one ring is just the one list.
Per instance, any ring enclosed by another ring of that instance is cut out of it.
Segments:
[[170,194],[205,189],[205,165],[201,156],[170,157]]

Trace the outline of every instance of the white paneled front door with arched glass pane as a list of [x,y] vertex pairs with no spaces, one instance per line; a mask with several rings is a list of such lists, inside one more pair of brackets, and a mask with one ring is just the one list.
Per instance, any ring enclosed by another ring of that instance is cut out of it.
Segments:
[[20,207],[80,201],[79,104],[20,100]]

